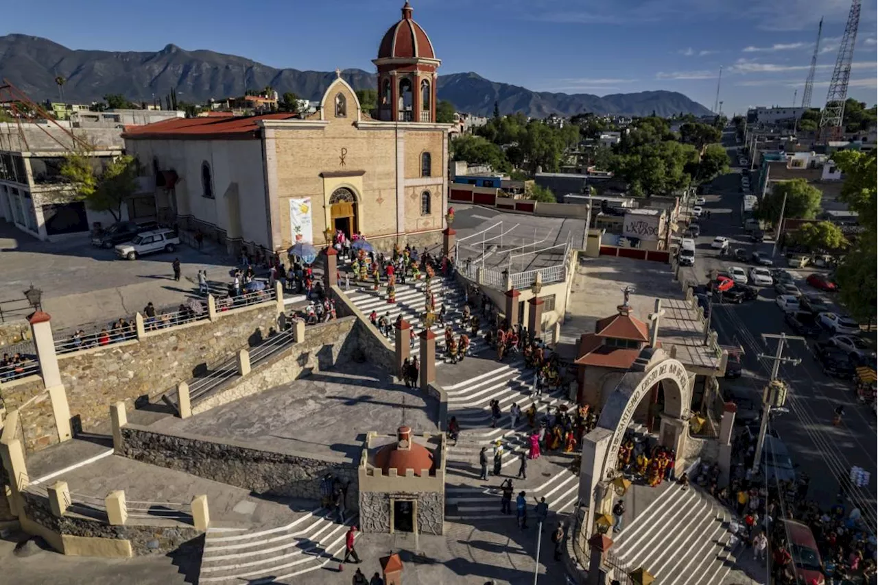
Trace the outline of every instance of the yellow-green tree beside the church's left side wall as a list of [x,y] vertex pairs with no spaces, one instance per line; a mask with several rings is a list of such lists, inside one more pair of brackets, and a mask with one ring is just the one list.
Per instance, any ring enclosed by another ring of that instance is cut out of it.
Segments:
[[107,165],[100,176],[85,153],[71,153],[66,159],[61,165],[61,175],[74,184],[77,195],[90,209],[109,211],[116,221],[121,221],[122,206],[137,187],[134,157],[119,157]]

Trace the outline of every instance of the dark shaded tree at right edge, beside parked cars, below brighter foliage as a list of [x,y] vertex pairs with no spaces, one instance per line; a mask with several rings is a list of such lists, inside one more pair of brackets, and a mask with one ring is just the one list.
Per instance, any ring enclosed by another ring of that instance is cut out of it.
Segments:
[[839,296],[846,310],[870,325],[878,317],[878,239],[874,232],[860,236],[836,270]]

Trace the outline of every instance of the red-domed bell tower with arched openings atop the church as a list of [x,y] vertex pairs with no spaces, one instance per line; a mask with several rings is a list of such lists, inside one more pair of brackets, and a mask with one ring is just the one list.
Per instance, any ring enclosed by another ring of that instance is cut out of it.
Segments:
[[385,122],[435,122],[436,69],[433,43],[414,22],[411,4],[378,46],[378,119]]

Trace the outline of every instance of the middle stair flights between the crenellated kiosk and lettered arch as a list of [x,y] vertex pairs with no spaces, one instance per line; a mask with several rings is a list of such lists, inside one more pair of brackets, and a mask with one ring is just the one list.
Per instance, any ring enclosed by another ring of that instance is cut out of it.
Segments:
[[[448,519],[475,522],[506,517],[500,514],[500,490],[496,486],[485,488],[482,485],[472,485],[472,480],[479,475],[479,451],[483,446],[490,449],[499,440],[503,446],[502,469],[505,474],[512,475],[518,470],[521,452],[529,449],[528,419],[522,416],[515,428],[512,428],[509,417],[512,403],[517,403],[522,411],[527,410],[531,404],[536,404],[540,415],[549,406],[554,408],[565,404],[568,408],[574,408],[573,403],[567,401],[562,389],[543,392],[542,396],[534,395],[533,377],[534,370],[525,368],[524,362],[517,360],[510,364],[498,363],[497,367],[481,375],[445,387],[449,399],[449,416],[457,417],[461,427],[457,444],[452,444],[448,450],[446,467],[449,483],[453,484],[458,478],[462,483],[471,483],[450,485],[446,488]],[[494,399],[500,401],[503,415],[497,427],[491,428],[489,403]],[[527,490],[529,505],[533,503],[531,497],[544,496],[550,510],[556,513],[572,510],[579,490],[577,474],[568,470],[572,457],[573,455],[558,457],[551,454],[551,459],[558,460],[551,463],[552,473],[549,479],[541,483],[534,479],[527,484],[517,482],[522,485],[521,489]],[[536,477],[536,469],[529,467],[529,474]]]

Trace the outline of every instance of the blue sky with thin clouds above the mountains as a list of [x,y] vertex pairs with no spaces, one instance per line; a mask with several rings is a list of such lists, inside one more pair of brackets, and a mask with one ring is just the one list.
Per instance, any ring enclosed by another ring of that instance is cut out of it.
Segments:
[[[238,54],[273,67],[372,70],[403,0],[241,0],[154,4],[44,0],[4,8],[0,34],[70,48]],[[443,60],[529,89],[603,96],[680,91],[712,107],[723,67],[723,111],[801,102],[824,17],[813,105],[823,105],[850,0],[412,0]],[[864,0],[849,96],[878,103],[878,2]]]

